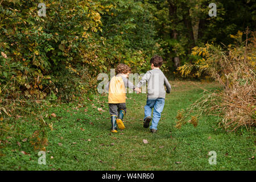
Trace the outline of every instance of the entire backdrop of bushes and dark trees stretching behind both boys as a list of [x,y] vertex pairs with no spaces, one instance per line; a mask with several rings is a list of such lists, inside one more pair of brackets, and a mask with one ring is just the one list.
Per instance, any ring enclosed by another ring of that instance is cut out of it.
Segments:
[[[142,73],[150,69],[150,57],[158,54],[164,57],[167,72],[173,69],[173,57],[179,57],[181,65],[192,63],[191,48],[219,42],[242,28],[234,25],[240,18],[231,18],[233,11],[227,7],[232,0],[216,2],[217,17],[212,18],[208,0],[47,0],[46,16],[41,17],[39,3],[1,1],[2,99],[42,100],[54,93],[53,100],[69,101],[74,94],[95,92],[98,73],[109,72],[118,63]],[[216,31],[226,19],[230,23]],[[250,22],[249,18],[246,25]]]

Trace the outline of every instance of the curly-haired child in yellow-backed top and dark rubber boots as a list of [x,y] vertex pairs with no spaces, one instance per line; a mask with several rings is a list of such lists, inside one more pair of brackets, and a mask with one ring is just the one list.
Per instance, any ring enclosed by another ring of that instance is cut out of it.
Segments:
[[117,66],[117,76],[111,78],[106,90],[109,91],[108,103],[109,113],[112,127],[110,131],[117,133],[117,125],[119,129],[125,129],[123,125],[123,117],[126,114],[126,88],[129,87],[136,92],[141,92],[141,89],[136,89],[132,82],[128,80],[131,73],[131,68],[126,64],[119,64]]

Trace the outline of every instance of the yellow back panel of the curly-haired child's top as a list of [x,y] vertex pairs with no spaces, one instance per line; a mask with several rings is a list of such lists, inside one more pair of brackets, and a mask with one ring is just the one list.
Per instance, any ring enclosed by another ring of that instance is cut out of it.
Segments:
[[109,104],[126,102],[125,83],[121,76],[114,76],[109,82]]

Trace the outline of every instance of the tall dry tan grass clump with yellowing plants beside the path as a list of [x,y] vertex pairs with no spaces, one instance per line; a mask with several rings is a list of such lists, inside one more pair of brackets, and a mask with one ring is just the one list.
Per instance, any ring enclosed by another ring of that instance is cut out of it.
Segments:
[[[223,89],[205,94],[187,109],[180,111],[176,117],[177,128],[187,122],[197,126],[197,120],[203,114],[217,115],[219,126],[226,131],[236,131],[243,126],[247,130],[255,127],[256,39],[255,32],[252,32],[251,39],[247,39],[248,34],[249,30],[246,30],[245,46],[229,45],[226,52],[220,50],[221,53],[209,53],[210,62],[216,60],[217,63],[209,66],[209,75],[220,82]],[[191,116],[193,113],[196,115]],[[191,119],[188,121],[189,118]]]

